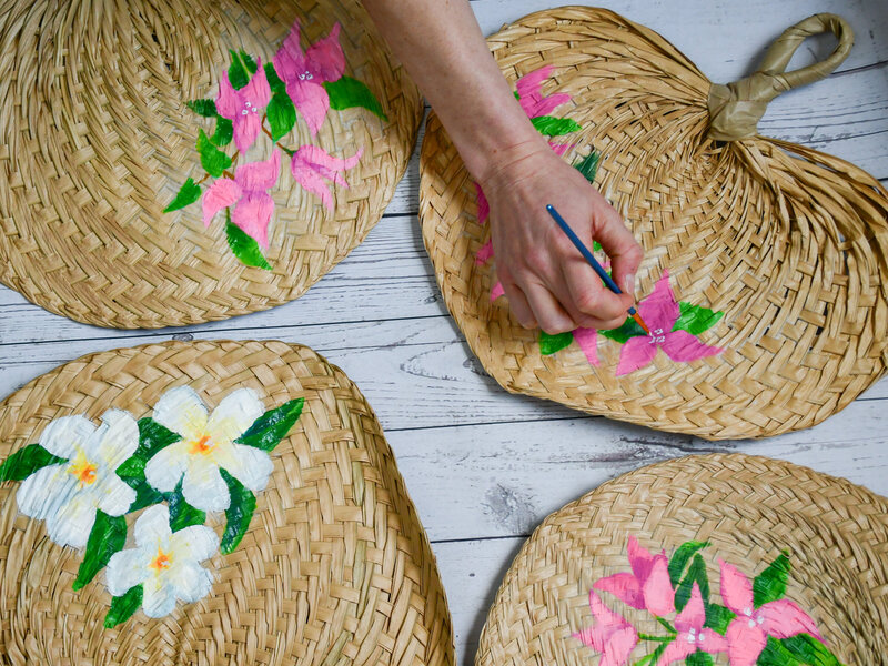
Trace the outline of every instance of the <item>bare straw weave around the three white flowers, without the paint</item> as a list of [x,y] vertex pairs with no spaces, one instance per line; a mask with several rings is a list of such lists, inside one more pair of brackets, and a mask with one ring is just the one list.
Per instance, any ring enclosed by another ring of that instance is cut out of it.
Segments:
[[[0,658],[3,664],[453,664],[450,614],[428,541],[373,411],[345,374],[282,342],[147,345],[84,356],[0,404],[0,456],[50,420],[120,407],[139,417],[170,386],[214,407],[230,391],[263,402],[304,397],[272,453],[236,549],[208,561],[209,596],[172,615],[142,612],[102,627],[110,595],[71,585],[80,553],[17,513],[0,487]],[[224,517],[209,525],[218,532]],[[100,574],[101,576],[102,574]]]

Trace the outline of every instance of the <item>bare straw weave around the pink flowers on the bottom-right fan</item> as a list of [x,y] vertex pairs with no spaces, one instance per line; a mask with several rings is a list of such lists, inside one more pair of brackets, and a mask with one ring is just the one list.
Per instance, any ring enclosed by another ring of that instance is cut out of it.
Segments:
[[[807,467],[714,454],[630,472],[548,516],[505,575],[476,666],[598,664],[572,633],[593,624],[593,583],[629,571],[629,535],[667,557],[684,542],[708,541],[702,553],[717,603],[718,558],[755,575],[788,549],[786,598],[814,618],[836,657],[888,664],[888,502]],[[664,633],[650,615],[599,594],[639,633]]]

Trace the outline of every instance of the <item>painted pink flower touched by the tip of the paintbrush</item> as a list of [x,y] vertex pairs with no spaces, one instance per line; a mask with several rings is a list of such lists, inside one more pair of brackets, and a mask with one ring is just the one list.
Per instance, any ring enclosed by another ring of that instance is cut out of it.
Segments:
[[669,272],[664,271],[654,292],[638,303],[638,313],[650,329],[650,335],[629,337],[623,345],[617,364],[617,376],[644,367],[662,349],[673,361],[688,363],[720,354],[724,350],[702,343],[687,331],[673,331],[680,309],[669,286]]

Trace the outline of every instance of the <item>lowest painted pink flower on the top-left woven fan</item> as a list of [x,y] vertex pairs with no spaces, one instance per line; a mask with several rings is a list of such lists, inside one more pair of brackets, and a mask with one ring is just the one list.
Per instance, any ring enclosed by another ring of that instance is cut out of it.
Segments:
[[268,248],[269,222],[274,212],[274,200],[268,190],[278,182],[281,173],[281,155],[274,152],[264,162],[251,162],[238,167],[234,179],[220,178],[203,195],[203,224],[210,225],[222,209],[234,205],[231,221]]

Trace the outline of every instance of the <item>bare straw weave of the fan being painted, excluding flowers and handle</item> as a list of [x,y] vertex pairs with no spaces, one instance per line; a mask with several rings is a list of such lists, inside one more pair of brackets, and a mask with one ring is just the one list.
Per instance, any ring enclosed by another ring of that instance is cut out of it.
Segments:
[[[680,301],[723,311],[702,339],[725,352],[616,376],[620,345],[542,356],[506,299],[491,303],[490,239],[475,189],[430,115],[421,161],[423,239],[444,301],[485,370],[506,390],[707,438],[809,427],[847,406],[888,364],[888,192],[860,169],[754,137],[707,138],[712,83],[652,30],[606,10],[531,14],[488,40],[514,82],[554,65],[543,94],[582,130],[572,163],[597,150],[595,184],[645,250],[636,297],[669,271]],[[820,83],[827,85],[828,83]],[[568,221],[569,222],[569,221]]]

